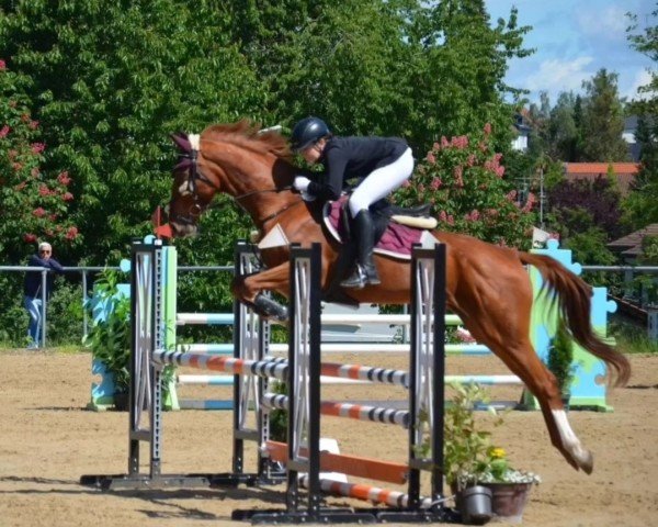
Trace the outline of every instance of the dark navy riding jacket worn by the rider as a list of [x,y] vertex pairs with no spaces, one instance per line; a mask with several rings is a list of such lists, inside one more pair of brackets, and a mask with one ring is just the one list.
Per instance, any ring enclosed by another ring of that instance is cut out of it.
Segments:
[[398,137],[332,137],[319,162],[325,172],[311,181],[308,193],[322,201],[337,200],[347,180],[365,178],[373,170],[397,160],[408,146]]

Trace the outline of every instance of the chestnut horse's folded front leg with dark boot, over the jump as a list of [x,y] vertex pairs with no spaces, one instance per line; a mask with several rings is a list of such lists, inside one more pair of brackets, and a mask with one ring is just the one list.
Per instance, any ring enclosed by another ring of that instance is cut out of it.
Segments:
[[231,291],[236,299],[251,306],[256,313],[279,322],[287,321],[287,307],[265,296],[262,291],[288,292],[290,262],[281,264],[253,274],[234,278]]

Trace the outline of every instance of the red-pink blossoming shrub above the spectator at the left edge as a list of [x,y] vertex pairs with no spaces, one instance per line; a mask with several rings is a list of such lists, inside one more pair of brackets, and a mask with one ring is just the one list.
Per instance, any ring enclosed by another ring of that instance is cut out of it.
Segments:
[[71,178],[42,172],[46,145],[39,123],[19,94],[23,81],[0,60],[0,254],[19,260],[42,240],[73,244],[78,228],[67,220]]

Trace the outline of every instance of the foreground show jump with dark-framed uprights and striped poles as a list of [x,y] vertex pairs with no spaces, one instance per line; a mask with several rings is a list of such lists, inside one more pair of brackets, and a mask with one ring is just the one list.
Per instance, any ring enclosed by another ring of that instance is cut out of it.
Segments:
[[[445,247],[417,248],[410,266],[412,282],[410,369],[407,375],[381,375],[408,384],[407,412],[363,408],[320,399],[320,374],[341,375],[340,365],[320,361],[320,248],[291,250],[290,336],[287,361],[269,358],[269,324],[236,302],[234,358],[195,355],[163,348],[167,330],[161,291],[161,245],[133,247],[133,359],[129,413],[128,473],[87,475],[81,483],[102,489],[256,485],[285,480],[285,509],[235,511],[234,519],[254,524],[446,522],[454,514],[443,506],[444,316]],[[251,267],[252,249],[236,248],[236,271]],[[235,374],[232,470],[222,474],[161,473],[161,371],[168,363],[185,363]],[[352,367],[354,368],[354,367]],[[352,374],[376,368],[355,367]],[[360,373],[359,373],[360,372]],[[377,375],[371,375],[377,380]],[[285,379],[287,396],[268,393],[269,379]],[[393,381],[392,381],[393,380]],[[287,444],[271,441],[269,411],[288,413]],[[407,463],[320,452],[320,415],[350,416],[405,426],[409,431]],[[422,418],[421,418],[422,416]],[[257,470],[243,467],[245,441],[259,446]],[[140,442],[149,444],[148,471],[143,471]],[[285,464],[282,474],[279,464]],[[406,484],[397,492],[363,484],[324,480],[321,471]],[[421,496],[421,473],[429,473],[429,492]],[[324,505],[322,493],[363,498],[388,507],[351,508]]]

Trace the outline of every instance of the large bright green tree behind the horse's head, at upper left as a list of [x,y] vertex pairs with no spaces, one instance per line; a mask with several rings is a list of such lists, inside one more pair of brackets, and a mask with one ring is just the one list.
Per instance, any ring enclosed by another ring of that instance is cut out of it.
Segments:
[[48,123],[47,166],[70,167],[86,239],[78,257],[116,261],[150,231],[150,212],[169,195],[170,133],[260,116],[264,91],[216,2],[1,5],[2,53],[32,79],[25,94]]

